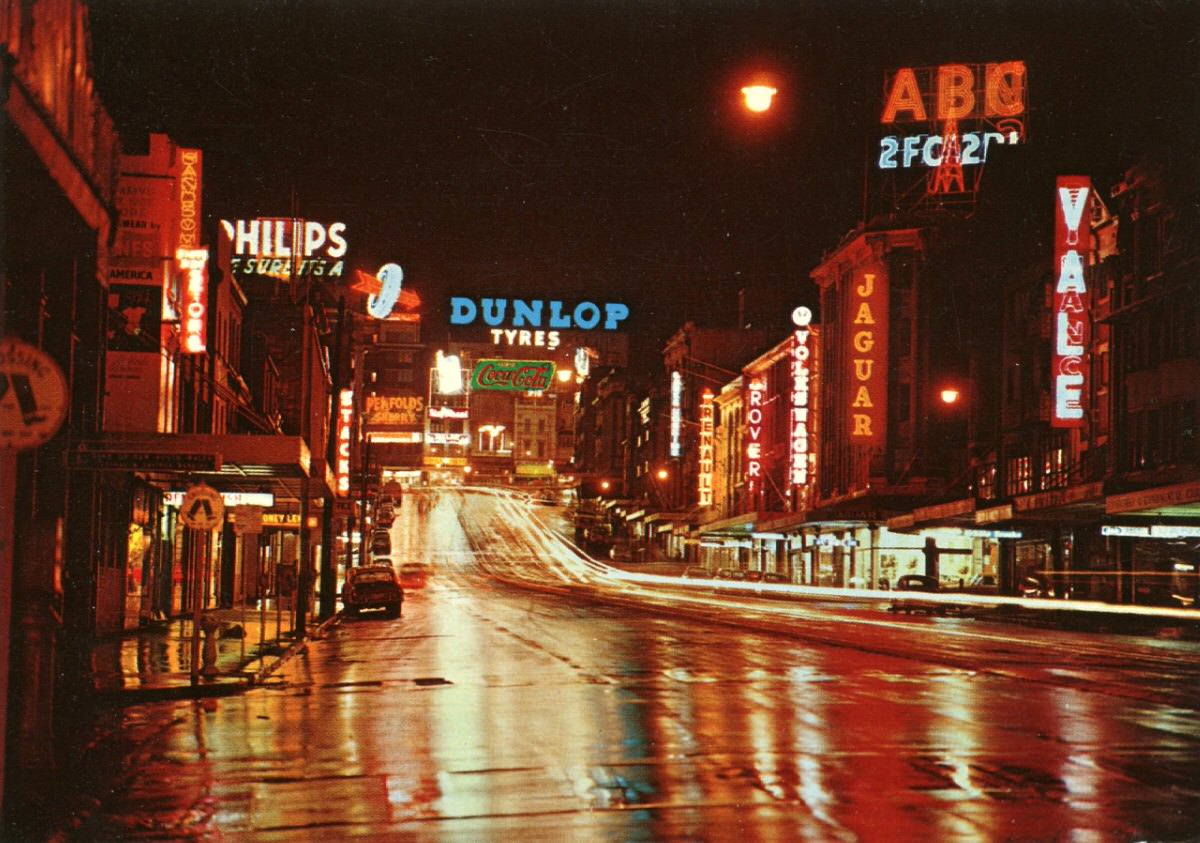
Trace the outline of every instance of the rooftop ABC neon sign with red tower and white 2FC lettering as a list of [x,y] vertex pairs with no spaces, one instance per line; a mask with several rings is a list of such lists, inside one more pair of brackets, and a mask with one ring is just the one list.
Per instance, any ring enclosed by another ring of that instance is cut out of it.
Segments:
[[989,156],[1025,143],[1025,91],[1024,61],[887,73],[877,165],[894,207],[973,208]]

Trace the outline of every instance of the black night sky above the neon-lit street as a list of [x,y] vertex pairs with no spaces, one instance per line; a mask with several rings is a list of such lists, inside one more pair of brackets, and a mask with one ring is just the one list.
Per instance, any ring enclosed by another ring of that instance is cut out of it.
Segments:
[[[624,300],[653,345],[688,316],[728,323],[739,288],[780,325],[811,301],[863,215],[886,70],[1027,64],[1028,143],[988,165],[980,213],[1034,252],[1056,173],[1109,185],[1160,144],[1200,151],[1198,7],[101,0],[91,24],[126,149],[202,148],[206,216],[294,195],[431,305]],[[752,121],[755,72],[780,98]]]

